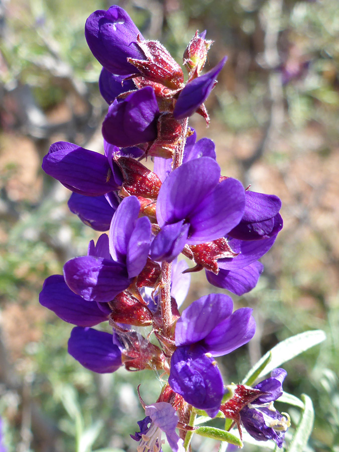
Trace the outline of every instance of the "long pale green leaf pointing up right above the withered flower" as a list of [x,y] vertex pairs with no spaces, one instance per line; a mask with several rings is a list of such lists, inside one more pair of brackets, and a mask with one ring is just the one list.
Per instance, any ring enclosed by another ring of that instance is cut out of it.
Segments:
[[[276,369],[283,363],[286,363],[286,361],[289,361],[292,358],[300,355],[300,353],[305,352],[306,350],[314,347],[317,344],[320,344],[320,342],[324,341],[325,339],[326,334],[321,329],[305,331],[303,333],[289,337],[288,339],[285,339],[285,341],[277,344],[269,352],[267,352],[251,369],[250,372],[251,374],[256,373],[257,370],[262,367],[262,364],[267,360],[269,354],[271,353],[271,361],[269,361],[268,364],[264,368],[262,368],[262,370],[257,375],[257,378],[261,378],[271,372],[273,369]],[[250,372],[245,377],[245,380],[251,377]]]

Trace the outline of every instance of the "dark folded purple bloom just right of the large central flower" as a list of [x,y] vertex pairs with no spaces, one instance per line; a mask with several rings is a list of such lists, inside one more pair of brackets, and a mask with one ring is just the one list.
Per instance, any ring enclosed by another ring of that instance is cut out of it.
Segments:
[[244,216],[228,236],[239,240],[262,240],[276,236],[283,227],[278,196],[246,191],[245,199]]

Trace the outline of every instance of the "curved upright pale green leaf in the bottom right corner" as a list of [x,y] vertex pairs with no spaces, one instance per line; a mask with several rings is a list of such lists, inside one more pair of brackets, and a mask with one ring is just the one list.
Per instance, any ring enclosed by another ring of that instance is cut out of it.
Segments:
[[299,424],[294,432],[292,441],[286,452],[303,452],[307,446],[308,438],[312,432],[314,421],[314,410],[312,400],[306,395],[302,394],[301,399],[304,402],[305,409],[303,410]]

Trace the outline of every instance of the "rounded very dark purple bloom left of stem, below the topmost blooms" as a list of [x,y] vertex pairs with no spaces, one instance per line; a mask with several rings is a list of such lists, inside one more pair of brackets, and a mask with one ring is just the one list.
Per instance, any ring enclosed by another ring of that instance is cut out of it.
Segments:
[[135,146],[157,138],[159,108],[150,86],[115,100],[102,123],[103,138],[115,146]]

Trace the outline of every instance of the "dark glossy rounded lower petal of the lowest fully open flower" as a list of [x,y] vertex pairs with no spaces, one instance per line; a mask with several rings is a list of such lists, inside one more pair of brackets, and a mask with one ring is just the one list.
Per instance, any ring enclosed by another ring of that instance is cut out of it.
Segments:
[[181,346],[171,358],[168,378],[173,391],[187,403],[216,416],[223,396],[223,383],[218,367],[201,347]]

